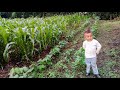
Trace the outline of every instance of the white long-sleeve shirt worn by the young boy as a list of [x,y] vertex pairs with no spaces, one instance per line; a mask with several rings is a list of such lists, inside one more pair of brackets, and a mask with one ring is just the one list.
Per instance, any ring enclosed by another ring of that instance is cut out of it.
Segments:
[[101,44],[95,39],[93,39],[92,41],[85,40],[83,42],[83,48],[85,49],[85,57],[96,57],[96,54],[99,54],[101,47]]

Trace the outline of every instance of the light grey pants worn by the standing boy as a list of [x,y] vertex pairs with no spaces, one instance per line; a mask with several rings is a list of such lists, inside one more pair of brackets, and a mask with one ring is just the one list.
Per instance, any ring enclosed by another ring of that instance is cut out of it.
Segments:
[[93,70],[93,74],[99,74],[98,73],[98,68],[97,68],[97,64],[96,64],[96,60],[97,58],[86,58],[85,62],[86,62],[86,73],[90,73],[90,68],[92,66],[92,70]]

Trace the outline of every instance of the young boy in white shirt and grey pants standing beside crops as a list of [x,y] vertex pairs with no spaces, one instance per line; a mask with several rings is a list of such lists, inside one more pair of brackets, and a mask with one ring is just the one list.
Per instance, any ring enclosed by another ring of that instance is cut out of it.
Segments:
[[83,42],[83,48],[85,49],[85,62],[86,62],[86,76],[90,75],[90,67],[92,66],[93,74],[100,78],[96,60],[97,55],[101,49],[101,44],[92,37],[92,32],[90,28],[84,32],[85,41]]

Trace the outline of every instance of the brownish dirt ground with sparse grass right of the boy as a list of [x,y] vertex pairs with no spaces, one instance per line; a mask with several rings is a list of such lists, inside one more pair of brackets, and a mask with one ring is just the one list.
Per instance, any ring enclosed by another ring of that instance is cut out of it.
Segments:
[[[104,24],[108,23],[108,29]],[[103,78],[120,77],[120,25],[119,23],[100,21],[99,36],[97,40],[102,44],[102,49],[98,55],[98,67]],[[114,51],[116,56],[111,57],[108,54],[110,50]],[[111,64],[111,65],[110,65]],[[109,71],[108,71],[109,70]],[[111,73],[110,73],[111,72]]]

